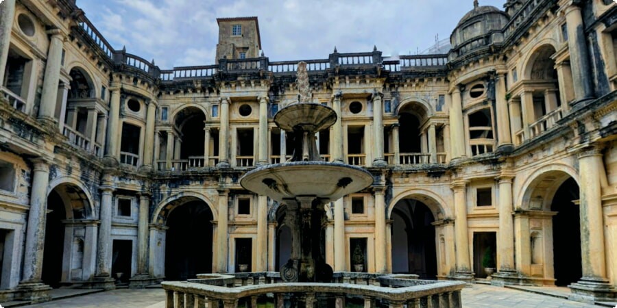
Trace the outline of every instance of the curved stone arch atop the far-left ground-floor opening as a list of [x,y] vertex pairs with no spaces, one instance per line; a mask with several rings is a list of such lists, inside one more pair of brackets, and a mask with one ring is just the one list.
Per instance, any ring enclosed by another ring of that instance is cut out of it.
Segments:
[[86,185],[84,185],[81,181],[71,177],[58,177],[49,183],[47,196],[49,196],[53,190],[60,190],[60,192],[64,192],[60,194],[60,197],[62,198],[62,201],[64,201],[64,205],[66,207],[66,219],[75,219],[73,212],[74,209],[69,208],[69,205],[77,205],[77,203],[80,202],[83,203],[83,218],[97,218],[97,211],[95,209],[95,203],[93,202],[95,198],[93,198],[92,194],[90,194],[90,190],[88,190]]

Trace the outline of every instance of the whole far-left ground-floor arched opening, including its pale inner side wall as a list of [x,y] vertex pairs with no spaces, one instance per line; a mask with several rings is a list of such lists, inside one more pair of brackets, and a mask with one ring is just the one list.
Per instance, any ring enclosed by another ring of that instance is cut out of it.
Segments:
[[93,232],[86,227],[90,214],[88,197],[77,186],[66,183],[51,190],[47,196],[43,283],[56,288],[94,274],[94,264],[84,264],[89,257],[84,256],[84,245],[96,244],[85,242]]

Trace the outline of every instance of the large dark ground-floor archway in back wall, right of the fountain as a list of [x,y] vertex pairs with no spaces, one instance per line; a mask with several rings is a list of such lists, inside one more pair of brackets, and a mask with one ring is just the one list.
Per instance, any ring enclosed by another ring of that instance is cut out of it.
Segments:
[[431,209],[415,198],[405,198],[394,205],[391,219],[392,272],[435,279],[437,251]]

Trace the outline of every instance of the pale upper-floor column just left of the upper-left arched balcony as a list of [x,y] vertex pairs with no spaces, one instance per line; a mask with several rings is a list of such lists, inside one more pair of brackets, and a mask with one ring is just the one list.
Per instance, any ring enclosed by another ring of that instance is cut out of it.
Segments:
[[49,51],[47,52],[47,64],[45,64],[45,77],[43,79],[43,92],[40,95],[38,107],[38,119],[55,123],[56,102],[58,101],[58,84],[60,83],[60,68],[62,68],[62,32],[58,29],[47,31],[51,35]]

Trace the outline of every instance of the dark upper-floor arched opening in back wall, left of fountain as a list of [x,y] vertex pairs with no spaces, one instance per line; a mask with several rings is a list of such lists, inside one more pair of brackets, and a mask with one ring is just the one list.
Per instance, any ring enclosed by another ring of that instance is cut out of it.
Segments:
[[176,114],[176,127],[182,133],[180,159],[204,156],[204,121],[206,116],[197,107],[186,107]]

